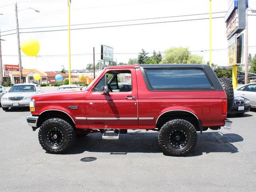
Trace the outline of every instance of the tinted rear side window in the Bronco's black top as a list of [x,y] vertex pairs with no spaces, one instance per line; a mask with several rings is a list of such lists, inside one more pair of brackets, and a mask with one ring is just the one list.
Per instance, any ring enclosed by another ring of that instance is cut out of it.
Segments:
[[212,88],[199,69],[148,69],[146,74],[154,89]]

